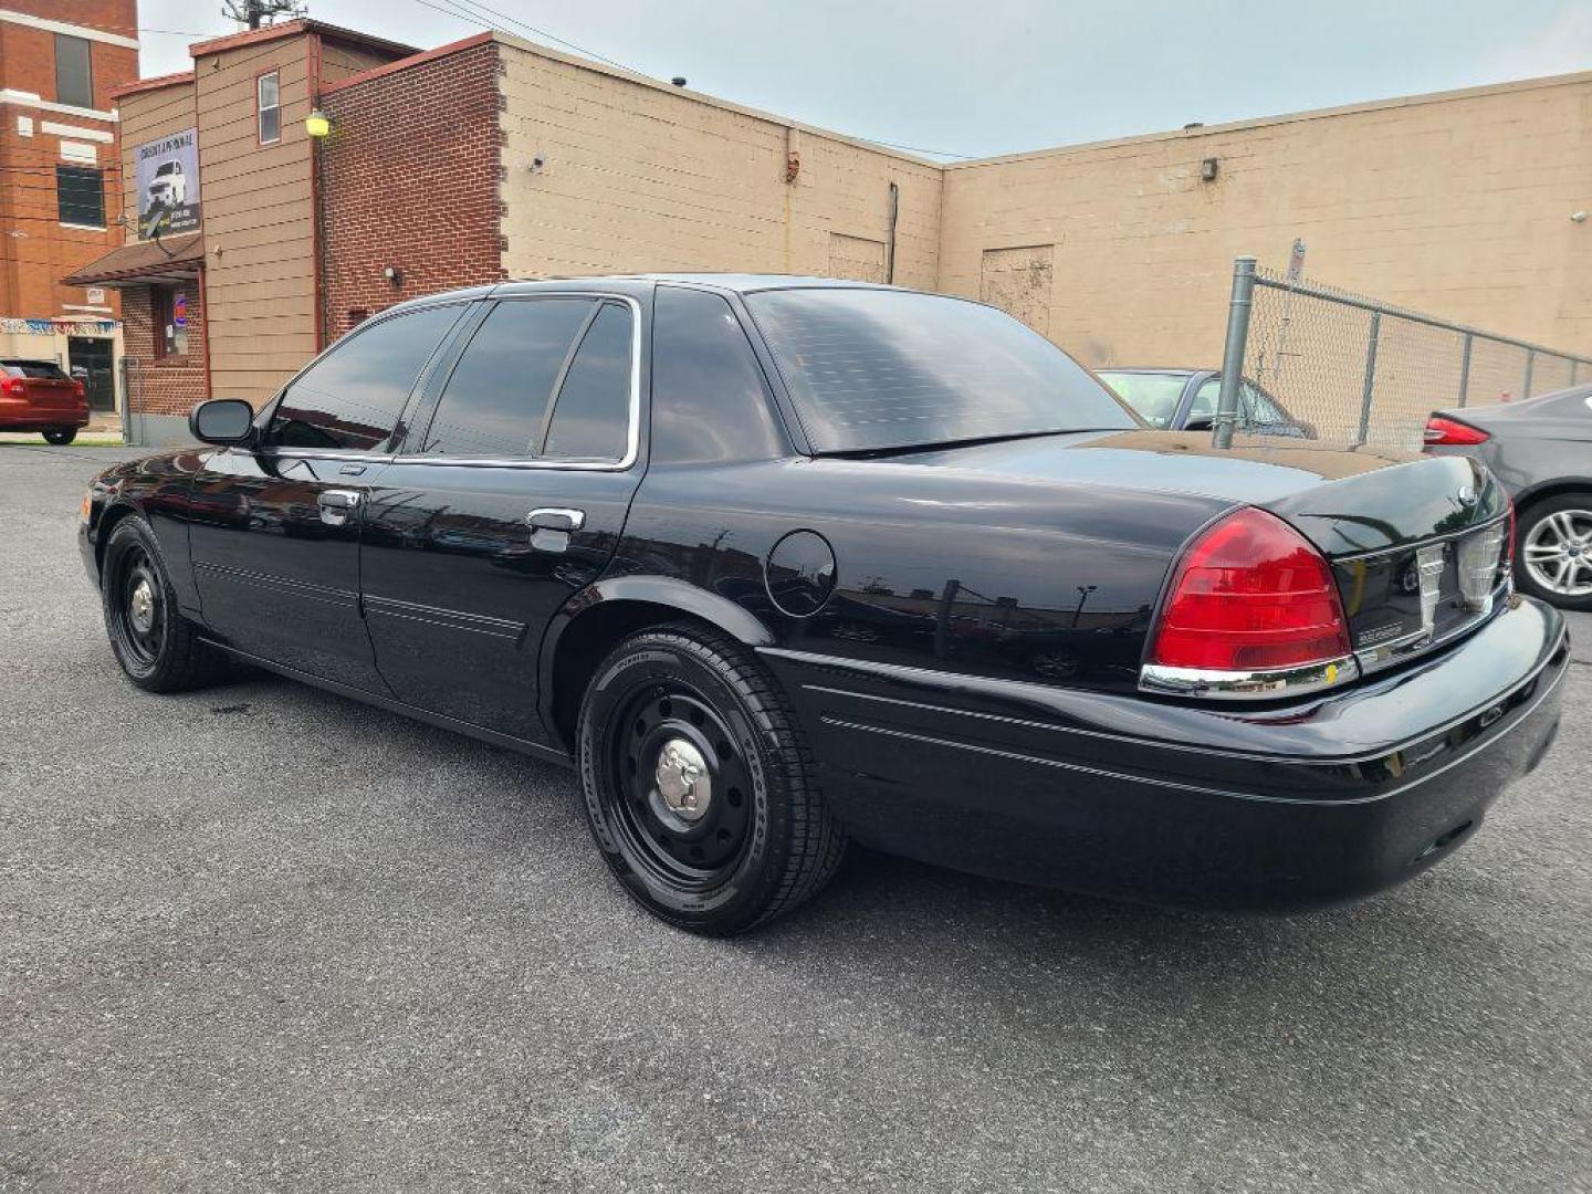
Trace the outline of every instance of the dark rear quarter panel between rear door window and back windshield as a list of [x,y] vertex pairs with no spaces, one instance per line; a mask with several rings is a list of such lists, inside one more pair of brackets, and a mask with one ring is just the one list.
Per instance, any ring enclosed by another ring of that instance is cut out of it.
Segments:
[[654,463],[767,460],[785,452],[767,382],[720,295],[659,287],[653,314]]

